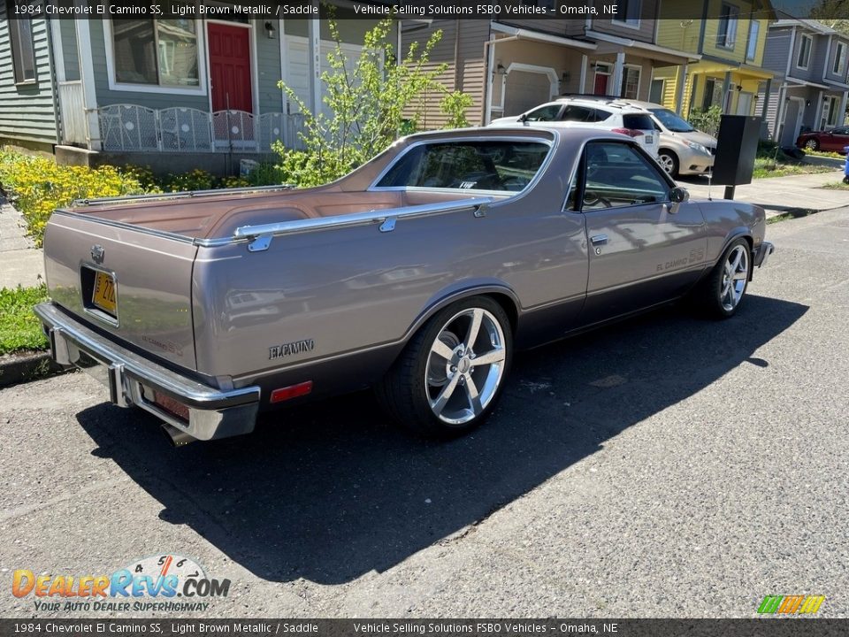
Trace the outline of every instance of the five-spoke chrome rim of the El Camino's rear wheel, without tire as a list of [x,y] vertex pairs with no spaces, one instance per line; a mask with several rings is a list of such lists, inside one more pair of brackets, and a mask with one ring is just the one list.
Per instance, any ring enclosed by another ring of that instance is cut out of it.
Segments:
[[478,417],[504,375],[504,332],[493,313],[471,307],[448,319],[432,342],[424,391],[433,415],[448,425]]

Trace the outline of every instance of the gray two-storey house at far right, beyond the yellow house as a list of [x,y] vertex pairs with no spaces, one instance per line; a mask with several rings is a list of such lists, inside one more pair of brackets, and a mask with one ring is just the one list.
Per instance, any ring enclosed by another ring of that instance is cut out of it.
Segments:
[[779,75],[778,89],[769,96],[767,121],[772,138],[792,146],[804,130],[843,125],[849,36],[815,20],[779,18],[769,25],[763,55],[763,65]]

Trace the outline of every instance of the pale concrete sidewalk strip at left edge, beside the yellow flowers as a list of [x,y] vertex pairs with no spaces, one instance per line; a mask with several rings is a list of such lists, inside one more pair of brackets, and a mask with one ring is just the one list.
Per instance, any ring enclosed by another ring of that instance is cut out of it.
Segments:
[[0,288],[29,288],[44,279],[42,250],[25,233],[19,211],[0,197]]

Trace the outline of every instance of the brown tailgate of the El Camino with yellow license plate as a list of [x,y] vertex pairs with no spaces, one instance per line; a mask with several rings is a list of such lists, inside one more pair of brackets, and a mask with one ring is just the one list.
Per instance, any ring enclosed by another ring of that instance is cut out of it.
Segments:
[[196,369],[190,238],[57,212],[44,235],[52,299],[81,319]]

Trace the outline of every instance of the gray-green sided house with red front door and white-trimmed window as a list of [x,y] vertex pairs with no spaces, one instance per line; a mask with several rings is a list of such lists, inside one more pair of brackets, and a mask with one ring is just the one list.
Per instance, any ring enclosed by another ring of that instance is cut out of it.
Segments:
[[[374,20],[336,4],[342,50],[356,59]],[[9,19],[13,3],[0,4],[0,143],[69,163],[223,173],[272,142],[298,145],[302,114],[279,80],[310,110],[325,108],[320,74],[335,44],[324,19],[256,17],[213,0],[179,19],[125,19],[99,5],[91,19]]]

